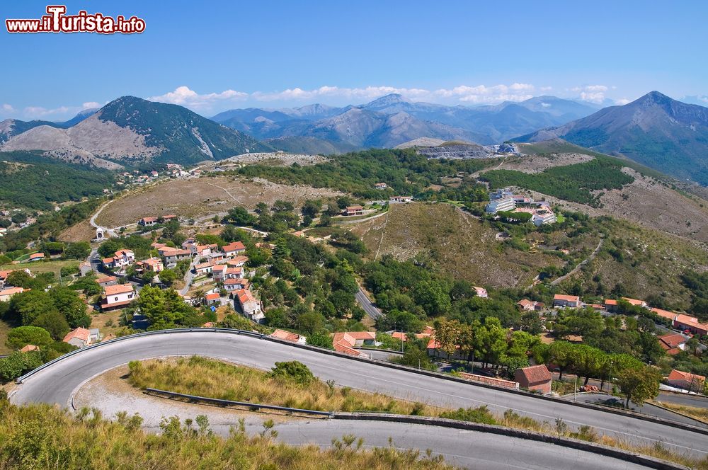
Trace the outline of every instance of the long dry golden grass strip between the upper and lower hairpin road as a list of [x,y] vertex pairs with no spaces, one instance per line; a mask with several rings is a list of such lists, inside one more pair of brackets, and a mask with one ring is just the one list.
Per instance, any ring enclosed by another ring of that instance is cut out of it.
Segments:
[[380,411],[427,416],[440,416],[443,413],[455,415],[457,413],[458,416],[476,416],[472,420],[479,423],[497,424],[507,428],[597,442],[676,462],[694,469],[708,470],[708,459],[699,460],[676,454],[662,445],[636,445],[615,437],[600,435],[595,429],[588,426],[571,430],[562,420],[556,423],[540,422],[528,416],[519,415],[512,410],[507,410],[503,415],[495,415],[490,413],[486,406],[476,408],[472,413],[470,413],[471,410],[455,411],[393,399],[382,394],[337,388],[319,381],[298,385],[290,380],[270,378],[267,372],[257,369],[235,366],[203,357],[141,362],[138,367],[135,365],[131,367],[128,380],[132,385],[139,387],[318,411]]

